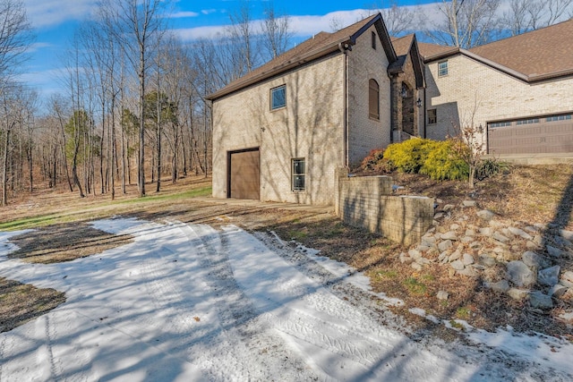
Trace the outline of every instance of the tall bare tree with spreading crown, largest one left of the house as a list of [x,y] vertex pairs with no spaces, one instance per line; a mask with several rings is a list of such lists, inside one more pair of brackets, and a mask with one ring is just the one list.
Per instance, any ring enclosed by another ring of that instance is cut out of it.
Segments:
[[102,0],[99,7],[101,20],[107,23],[124,49],[139,82],[139,159],[138,186],[145,196],[145,86],[148,67],[154,48],[165,31],[167,1],[164,0]]

